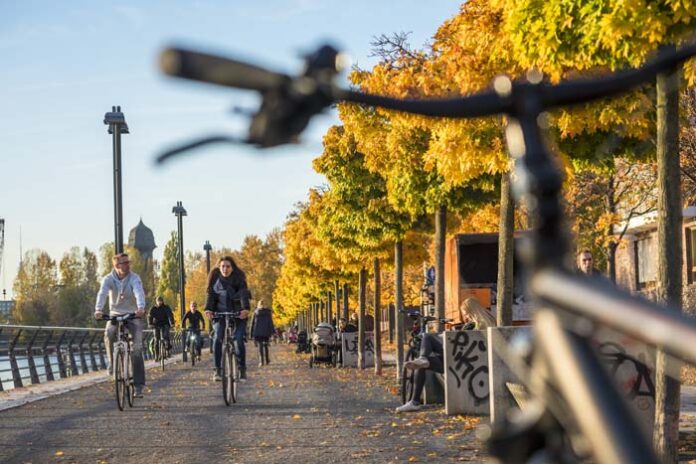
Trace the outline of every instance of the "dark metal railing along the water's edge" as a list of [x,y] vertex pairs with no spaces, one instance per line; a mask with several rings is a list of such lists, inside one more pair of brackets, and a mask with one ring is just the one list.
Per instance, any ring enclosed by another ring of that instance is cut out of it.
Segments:
[[[152,330],[143,331],[143,356],[154,359]],[[172,354],[183,335],[171,331]],[[0,391],[106,369],[103,328],[0,325]]]

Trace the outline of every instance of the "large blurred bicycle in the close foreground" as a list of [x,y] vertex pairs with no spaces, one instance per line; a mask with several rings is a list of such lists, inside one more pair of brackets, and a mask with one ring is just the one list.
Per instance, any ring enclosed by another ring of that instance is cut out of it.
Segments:
[[[513,193],[517,201],[527,200],[536,225],[520,256],[527,293],[536,303],[533,337],[511,351],[506,361],[527,388],[532,407],[522,411],[518,420],[501,421],[488,439],[489,450],[504,462],[540,458],[569,462],[588,456],[602,463],[657,462],[650,441],[604,371],[589,337],[601,324],[693,363],[696,321],[568,268],[562,174],[544,144],[541,116],[555,108],[625,93],[694,55],[696,46],[691,45],[663,51],[641,68],[600,78],[552,85],[499,77],[493,90],[466,97],[399,100],[338,87],[338,52],[329,46],[309,55],[303,74],[295,77],[237,60],[169,49],[161,57],[167,74],[255,90],[262,100],[244,139],[207,137],[169,150],[157,161],[210,143],[258,147],[291,143],[314,115],[337,101],[437,117],[505,115],[508,151],[517,160]],[[578,456],[573,449],[573,444],[581,442],[586,456]]]

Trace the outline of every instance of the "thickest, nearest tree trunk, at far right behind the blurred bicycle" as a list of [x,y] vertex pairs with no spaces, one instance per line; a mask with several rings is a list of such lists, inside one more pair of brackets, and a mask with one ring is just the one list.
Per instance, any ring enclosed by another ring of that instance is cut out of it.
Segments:
[[[678,68],[657,76],[657,298],[681,311],[682,204],[679,173]],[[658,348],[653,442],[660,462],[677,462],[679,445],[679,372],[675,361]]]

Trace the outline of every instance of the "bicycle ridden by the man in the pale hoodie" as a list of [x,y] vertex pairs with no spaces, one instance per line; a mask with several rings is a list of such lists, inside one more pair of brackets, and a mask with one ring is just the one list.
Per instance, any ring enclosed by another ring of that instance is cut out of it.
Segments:
[[135,398],[133,366],[131,363],[131,341],[129,334],[126,333],[126,323],[132,319],[135,319],[135,314],[102,316],[102,320],[118,324],[117,338],[111,353],[111,366],[113,369],[116,404],[120,411],[123,411],[126,400],[128,401],[128,406],[132,408]]

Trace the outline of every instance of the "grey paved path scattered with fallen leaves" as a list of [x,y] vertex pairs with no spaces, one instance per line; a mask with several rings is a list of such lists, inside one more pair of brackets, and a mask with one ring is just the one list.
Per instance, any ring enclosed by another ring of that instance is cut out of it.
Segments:
[[[355,369],[309,369],[287,346],[272,347],[226,407],[210,359],[195,368],[148,371],[144,399],[119,412],[103,382],[0,411],[2,463],[480,462],[477,420],[441,409],[397,416],[388,377]],[[207,353],[204,357],[208,357]],[[391,391],[390,391],[391,390]]]

